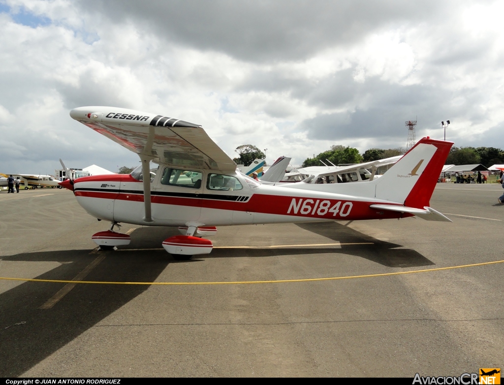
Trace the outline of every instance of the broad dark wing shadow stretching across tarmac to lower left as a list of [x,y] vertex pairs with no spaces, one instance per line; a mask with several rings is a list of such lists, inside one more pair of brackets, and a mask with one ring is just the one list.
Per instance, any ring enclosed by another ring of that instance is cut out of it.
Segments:
[[[132,248],[140,248],[143,243],[143,240],[132,242]],[[98,268],[91,270],[84,280],[154,282],[172,262],[164,250],[103,253],[106,256]],[[90,250],[65,250],[2,259],[57,261],[61,265],[36,278],[72,280],[100,255],[90,254]],[[149,285],[77,284],[51,309],[39,309],[65,285],[28,281],[0,294],[0,377],[23,374],[149,288]]]

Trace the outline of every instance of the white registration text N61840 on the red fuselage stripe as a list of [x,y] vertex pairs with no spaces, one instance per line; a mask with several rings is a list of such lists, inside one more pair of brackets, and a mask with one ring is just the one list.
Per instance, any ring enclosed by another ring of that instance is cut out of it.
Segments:
[[287,214],[325,217],[345,217],[352,211],[353,203],[329,199],[292,198]]

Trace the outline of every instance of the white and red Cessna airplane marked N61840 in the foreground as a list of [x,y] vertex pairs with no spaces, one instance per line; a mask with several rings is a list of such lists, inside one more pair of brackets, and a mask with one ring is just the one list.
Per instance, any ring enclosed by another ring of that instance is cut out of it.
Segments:
[[[120,222],[178,226],[183,235],[163,242],[176,260],[208,254],[219,225],[385,219],[419,216],[450,221],[429,207],[451,142],[421,139],[380,179],[368,183],[268,186],[236,170],[235,163],[197,124],[115,107],[80,107],[70,116],[138,153],[131,174],[66,180],[79,204],[112,223],[94,234],[101,249],[128,245],[114,232]],[[155,176],[151,161],[159,164]],[[150,178],[143,178],[150,175]]]

